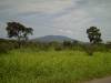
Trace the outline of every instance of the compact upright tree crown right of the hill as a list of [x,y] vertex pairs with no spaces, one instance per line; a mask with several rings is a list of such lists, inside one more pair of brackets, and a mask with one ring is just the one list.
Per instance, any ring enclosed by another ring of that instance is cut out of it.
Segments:
[[87,33],[91,43],[100,43],[102,41],[100,29],[97,27],[90,27],[90,29],[87,29]]

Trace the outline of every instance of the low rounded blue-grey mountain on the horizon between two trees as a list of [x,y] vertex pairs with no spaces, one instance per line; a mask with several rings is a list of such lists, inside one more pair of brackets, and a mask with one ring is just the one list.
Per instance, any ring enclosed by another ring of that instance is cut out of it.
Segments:
[[77,41],[77,40],[73,40],[73,39],[64,37],[64,35],[46,35],[46,37],[32,39],[31,41],[34,41],[34,42],[36,41],[40,41],[40,42],[52,42],[52,41],[63,42],[63,41]]

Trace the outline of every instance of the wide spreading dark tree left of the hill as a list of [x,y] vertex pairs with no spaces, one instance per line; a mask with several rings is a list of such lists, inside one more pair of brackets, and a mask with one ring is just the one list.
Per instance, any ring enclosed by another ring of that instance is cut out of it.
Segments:
[[19,22],[8,22],[6,30],[8,32],[9,38],[18,39],[19,46],[21,45],[20,42],[22,40],[27,41],[28,35],[32,34],[32,32],[33,32],[32,28],[26,28],[23,24],[21,24]]

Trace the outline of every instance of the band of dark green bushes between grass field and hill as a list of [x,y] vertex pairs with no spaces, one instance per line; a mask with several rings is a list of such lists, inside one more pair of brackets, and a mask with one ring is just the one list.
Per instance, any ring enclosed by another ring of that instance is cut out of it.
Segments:
[[[74,43],[74,42],[67,42],[67,43],[59,43],[59,42],[21,42],[22,49],[33,49],[36,51],[63,51],[63,50],[71,50],[71,51],[84,51],[89,55],[92,55],[94,52],[107,52],[111,50],[111,44],[90,44],[90,43]],[[6,51],[11,51],[13,49],[18,49],[18,41],[17,40],[0,40],[0,49]],[[92,53],[92,54],[91,54]]]

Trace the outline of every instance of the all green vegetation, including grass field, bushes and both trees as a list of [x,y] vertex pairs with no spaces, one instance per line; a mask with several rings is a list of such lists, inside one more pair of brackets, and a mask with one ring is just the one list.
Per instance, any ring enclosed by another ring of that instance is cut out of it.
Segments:
[[[27,41],[32,28],[8,22],[0,39],[0,83],[82,83],[111,75],[111,42],[101,43],[97,27],[87,30],[90,43]],[[93,54],[93,55],[92,55]]]

